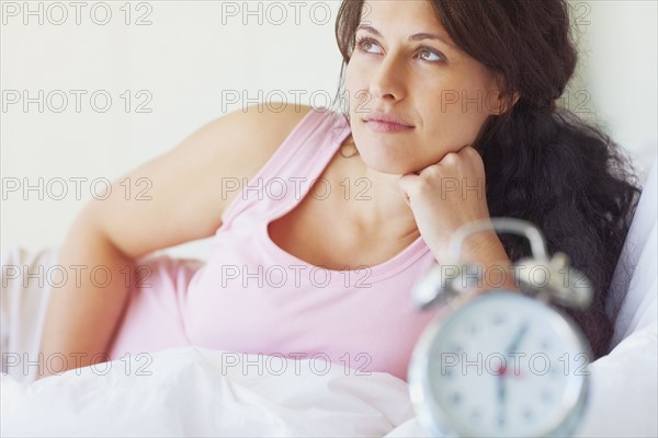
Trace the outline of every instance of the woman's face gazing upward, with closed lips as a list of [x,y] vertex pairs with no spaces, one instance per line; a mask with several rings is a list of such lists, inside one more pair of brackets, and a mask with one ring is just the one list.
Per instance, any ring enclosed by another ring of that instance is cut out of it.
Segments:
[[[500,107],[495,77],[454,45],[427,0],[364,2],[345,89],[361,158],[390,174],[420,171],[473,143]],[[365,120],[375,112],[409,127],[386,131]]]

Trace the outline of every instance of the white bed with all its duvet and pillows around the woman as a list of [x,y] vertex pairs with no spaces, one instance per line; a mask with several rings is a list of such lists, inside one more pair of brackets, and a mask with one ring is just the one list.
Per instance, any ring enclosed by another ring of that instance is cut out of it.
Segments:
[[[656,163],[614,275],[614,349],[589,366],[577,436],[658,436]],[[34,381],[47,292],[12,266],[53,266],[56,249],[2,251],[2,436],[424,436],[394,376],[291,359],[171,348]]]

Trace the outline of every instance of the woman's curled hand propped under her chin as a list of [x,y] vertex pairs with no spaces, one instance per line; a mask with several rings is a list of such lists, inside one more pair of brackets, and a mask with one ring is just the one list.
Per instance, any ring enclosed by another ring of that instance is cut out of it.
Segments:
[[[489,218],[485,164],[470,146],[450,152],[418,172],[401,175],[398,186],[413,211],[420,234],[439,263],[446,261],[450,237],[455,230]],[[495,232],[486,234],[469,237],[465,245],[496,237]]]

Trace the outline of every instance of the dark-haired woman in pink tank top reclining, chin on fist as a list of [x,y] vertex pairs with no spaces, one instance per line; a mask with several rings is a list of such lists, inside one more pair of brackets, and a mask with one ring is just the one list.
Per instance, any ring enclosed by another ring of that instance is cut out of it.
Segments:
[[[604,301],[639,191],[614,143],[555,108],[577,58],[566,2],[345,1],[337,39],[347,117],[226,115],[128,175],[152,182],[152,200],[87,206],[60,264],[105,265],[115,280],[54,291],[46,357],[88,354],[72,368],[193,344],[406,378],[431,318],[411,309],[409,288],[445,262],[452,232],[495,216],[534,222],[589,277],[593,306],[571,314],[595,356],[608,351]],[[283,191],[263,197],[259,184],[275,178]],[[246,180],[253,196],[227,189]],[[359,183],[365,196],[347,191]],[[203,267],[149,262],[150,289],[118,274],[215,233]],[[484,269],[522,254],[525,242],[494,232],[463,252]]]

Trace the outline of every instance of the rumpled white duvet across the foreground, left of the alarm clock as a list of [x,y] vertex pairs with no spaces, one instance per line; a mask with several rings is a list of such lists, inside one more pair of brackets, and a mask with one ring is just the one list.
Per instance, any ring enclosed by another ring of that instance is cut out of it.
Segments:
[[151,358],[34,383],[2,376],[2,436],[381,437],[413,417],[407,384],[387,373],[194,347]]

